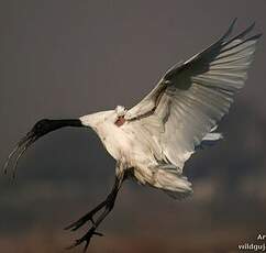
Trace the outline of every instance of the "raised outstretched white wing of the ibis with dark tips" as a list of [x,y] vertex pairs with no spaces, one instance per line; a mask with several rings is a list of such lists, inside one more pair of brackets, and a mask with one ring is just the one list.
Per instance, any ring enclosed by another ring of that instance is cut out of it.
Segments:
[[234,23],[210,47],[171,67],[125,114],[129,125],[145,128],[156,142],[157,158],[180,169],[229,111],[233,95],[246,80],[261,34],[246,37],[253,24],[231,38]]

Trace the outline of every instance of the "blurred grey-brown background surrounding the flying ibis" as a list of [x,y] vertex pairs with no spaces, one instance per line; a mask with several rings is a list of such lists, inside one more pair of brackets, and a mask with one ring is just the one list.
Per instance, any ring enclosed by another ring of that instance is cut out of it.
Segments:
[[[42,118],[126,108],[173,64],[214,42],[237,16],[265,32],[265,0],[0,1],[0,119],[4,163]],[[195,194],[175,201],[126,182],[91,253],[237,252],[266,234],[266,42],[220,124],[225,140],[186,163]],[[60,253],[84,231],[63,228],[109,193],[114,161],[92,132],[43,138],[0,177],[0,252]],[[81,252],[76,249],[70,252]]]

